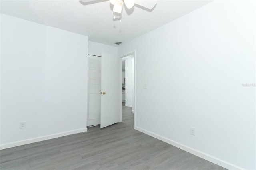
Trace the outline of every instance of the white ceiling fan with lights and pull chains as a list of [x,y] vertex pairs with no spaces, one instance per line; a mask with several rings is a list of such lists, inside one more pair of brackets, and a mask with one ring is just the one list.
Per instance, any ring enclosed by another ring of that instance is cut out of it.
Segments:
[[[92,4],[92,3],[98,3],[98,2],[104,2],[107,0],[80,0],[85,5]],[[134,6],[134,4],[137,4],[139,6],[142,6],[144,8],[147,8],[151,10],[156,5],[156,0],[109,0],[111,4],[114,5],[113,8],[113,18],[119,19],[119,22],[121,22],[122,17],[122,9],[125,4],[125,6],[130,9]],[[89,3],[88,3],[89,2]]]

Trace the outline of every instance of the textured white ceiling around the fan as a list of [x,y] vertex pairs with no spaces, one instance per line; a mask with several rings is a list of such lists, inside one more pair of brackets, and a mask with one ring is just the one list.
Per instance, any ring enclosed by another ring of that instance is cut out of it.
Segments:
[[211,1],[157,0],[152,11],[124,8],[122,21],[113,21],[109,1],[83,5],[78,0],[1,0],[1,13],[89,36],[113,45],[128,42]]

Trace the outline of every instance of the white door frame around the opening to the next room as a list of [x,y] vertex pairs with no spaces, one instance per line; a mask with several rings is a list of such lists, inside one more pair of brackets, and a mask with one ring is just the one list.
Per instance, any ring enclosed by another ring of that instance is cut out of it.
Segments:
[[[134,128],[136,127],[136,50],[120,55],[120,58],[134,55]],[[122,85],[122,60],[120,61],[120,85]],[[122,88],[120,88],[120,122],[122,122]]]

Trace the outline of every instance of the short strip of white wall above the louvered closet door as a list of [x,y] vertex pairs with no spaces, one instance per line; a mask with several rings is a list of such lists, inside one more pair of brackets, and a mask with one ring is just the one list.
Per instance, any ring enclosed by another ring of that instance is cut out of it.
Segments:
[[102,52],[117,56],[118,48],[110,45],[105,45],[102,43],[89,41],[89,45],[88,45],[89,54],[101,56]]

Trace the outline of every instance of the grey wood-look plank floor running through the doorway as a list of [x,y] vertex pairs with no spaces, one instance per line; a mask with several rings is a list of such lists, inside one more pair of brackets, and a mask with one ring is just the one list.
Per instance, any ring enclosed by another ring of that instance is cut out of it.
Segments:
[[224,170],[134,130],[131,108],[122,122],[0,151],[1,170]]

